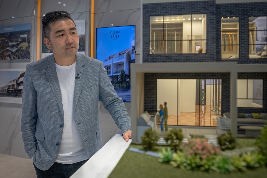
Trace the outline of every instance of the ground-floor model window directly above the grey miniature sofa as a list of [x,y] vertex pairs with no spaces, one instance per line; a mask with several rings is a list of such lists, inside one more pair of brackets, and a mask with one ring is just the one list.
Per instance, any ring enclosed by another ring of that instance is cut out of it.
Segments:
[[237,80],[237,107],[262,108],[263,103],[262,79]]

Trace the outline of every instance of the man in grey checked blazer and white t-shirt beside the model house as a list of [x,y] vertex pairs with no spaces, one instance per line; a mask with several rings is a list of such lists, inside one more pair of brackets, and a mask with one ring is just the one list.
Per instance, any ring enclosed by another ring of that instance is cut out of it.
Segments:
[[125,141],[131,122],[99,60],[77,53],[76,25],[66,11],[42,19],[53,54],[26,66],[21,132],[37,177],[70,177],[101,147],[98,99]]

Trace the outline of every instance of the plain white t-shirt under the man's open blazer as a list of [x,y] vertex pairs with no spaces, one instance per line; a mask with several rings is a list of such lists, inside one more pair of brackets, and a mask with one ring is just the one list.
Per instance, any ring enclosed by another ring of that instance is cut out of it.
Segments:
[[70,66],[56,64],[64,111],[64,127],[57,163],[72,164],[88,159],[81,134],[74,119],[73,98],[76,62]]

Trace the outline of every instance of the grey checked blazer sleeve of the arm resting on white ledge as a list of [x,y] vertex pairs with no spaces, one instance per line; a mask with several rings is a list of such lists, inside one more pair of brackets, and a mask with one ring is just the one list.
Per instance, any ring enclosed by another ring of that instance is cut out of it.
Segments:
[[122,99],[117,95],[110,78],[107,76],[107,71],[102,62],[99,68],[99,76],[99,98],[114,119],[115,124],[120,128],[121,134],[123,134],[123,132],[131,129],[131,119]]

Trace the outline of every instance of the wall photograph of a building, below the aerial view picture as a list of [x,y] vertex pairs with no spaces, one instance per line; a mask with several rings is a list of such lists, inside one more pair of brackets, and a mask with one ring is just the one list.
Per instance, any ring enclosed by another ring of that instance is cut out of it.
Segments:
[[0,102],[22,104],[25,69],[0,69]]

